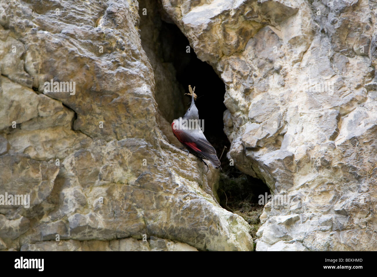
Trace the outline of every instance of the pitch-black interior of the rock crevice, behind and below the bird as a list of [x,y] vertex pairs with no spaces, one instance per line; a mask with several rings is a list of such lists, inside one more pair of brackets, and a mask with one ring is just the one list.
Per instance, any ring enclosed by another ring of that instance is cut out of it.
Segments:
[[[223,186],[220,187],[225,193],[219,193],[220,202],[234,202],[238,199],[247,200],[250,203],[258,203],[258,195],[267,192],[270,193],[268,187],[260,179],[253,178],[242,173],[238,168],[229,165],[226,158],[227,149],[230,148],[230,142],[224,133],[223,113],[227,109],[224,105],[225,84],[216,74],[210,64],[199,60],[194,50],[190,47],[190,53],[186,52],[189,46],[189,40],[182,34],[181,30],[175,25],[162,21],[159,40],[162,43],[162,49],[175,49],[176,51],[164,51],[164,61],[173,64],[176,70],[176,78],[179,83],[187,90],[189,84],[196,87],[195,93],[198,98],[195,101],[199,110],[199,118],[204,119],[204,135],[215,147],[218,157],[220,158],[222,150],[222,168],[227,177],[237,180],[237,184],[231,187],[226,186],[226,181],[220,180]],[[168,47],[169,45],[169,47]],[[171,47],[173,45],[173,47]],[[187,98],[187,107],[189,107],[189,96]],[[223,178],[224,179],[224,178]],[[229,182],[228,182],[229,183]],[[230,182],[234,183],[234,182]],[[220,184],[221,185],[221,184]],[[222,201],[224,200],[224,201]],[[225,202],[223,206],[225,207]]]

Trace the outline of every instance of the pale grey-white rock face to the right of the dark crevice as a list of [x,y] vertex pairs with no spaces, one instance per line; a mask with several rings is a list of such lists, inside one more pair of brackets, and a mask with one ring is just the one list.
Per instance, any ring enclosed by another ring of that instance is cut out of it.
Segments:
[[162,2],[226,85],[228,158],[287,199],[256,249],[376,249],[377,3]]

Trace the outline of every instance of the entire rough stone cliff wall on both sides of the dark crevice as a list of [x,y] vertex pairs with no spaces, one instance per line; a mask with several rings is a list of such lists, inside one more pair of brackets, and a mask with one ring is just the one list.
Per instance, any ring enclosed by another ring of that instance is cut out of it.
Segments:
[[[256,249],[375,249],[376,4],[161,3],[225,83],[227,157],[274,194]],[[0,194],[31,196],[0,207],[0,249],[253,249],[218,171],[170,144],[182,88],[141,5],[0,0]]]

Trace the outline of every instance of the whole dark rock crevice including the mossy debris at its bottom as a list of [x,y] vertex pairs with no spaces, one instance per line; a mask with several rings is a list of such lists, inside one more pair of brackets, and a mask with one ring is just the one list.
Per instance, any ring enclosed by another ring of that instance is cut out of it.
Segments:
[[[148,30],[145,29],[147,26],[144,26],[143,29],[143,16],[140,14],[140,17],[143,40],[143,32]],[[256,231],[260,226],[259,217],[264,207],[264,205],[258,204],[258,196],[265,195],[265,193],[270,194],[270,190],[260,179],[253,178],[242,173],[235,166],[231,166],[226,157],[226,153],[230,149],[230,142],[223,130],[223,113],[226,110],[223,102],[225,84],[209,64],[199,60],[191,47],[189,48],[190,52],[187,53],[187,46],[190,46],[190,43],[175,24],[160,19],[157,25],[159,26],[159,35],[156,43],[161,45],[159,47],[161,53],[157,55],[163,63],[173,65],[176,80],[181,84],[182,89],[179,93],[181,99],[170,99],[170,105],[172,105],[170,109],[174,110],[173,105],[176,103],[185,103],[184,111],[187,110],[190,106],[190,97],[184,93],[189,92],[189,85],[195,86],[195,93],[198,95],[195,104],[199,110],[199,119],[204,119],[204,135],[215,147],[219,158],[224,146],[226,147],[220,159],[222,166],[218,189],[220,205],[226,210],[242,216],[250,225],[251,236],[256,239]],[[158,95],[156,98],[158,102]],[[167,107],[166,103],[158,104]],[[175,113],[174,118],[183,116],[183,113]],[[172,122],[171,118],[166,118],[166,120]]]

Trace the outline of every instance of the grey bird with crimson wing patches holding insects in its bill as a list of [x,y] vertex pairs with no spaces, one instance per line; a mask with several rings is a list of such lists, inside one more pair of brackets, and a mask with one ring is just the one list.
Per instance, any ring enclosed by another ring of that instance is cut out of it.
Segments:
[[[189,86],[189,91],[190,93],[186,94],[192,96],[191,106],[183,117],[173,120],[173,134],[179,142],[188,149],[188,152],[198,157],[207,166],[207,172],[208,165],[203,159],[210,161],[213,167],[221,169],[221,162],[216,155],[215,148],[213,148],[210,142],[205,138],[204,133],[198,126],[199,124],[195,124],[195,122],[199,122],[199,112],[194,102],[194,96],[196,96],[194,93],[195,87],[194,90],[192,90],[191,86]],[[194,123],[194,126],[192,126],[192,123]],[[187,155],[189,155],[189,153],[187,153]]]

